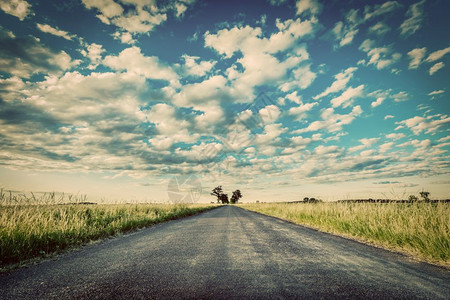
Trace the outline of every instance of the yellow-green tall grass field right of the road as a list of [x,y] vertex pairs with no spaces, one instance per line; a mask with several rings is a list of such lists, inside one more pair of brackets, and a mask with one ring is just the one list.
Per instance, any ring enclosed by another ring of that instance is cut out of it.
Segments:
[[239,206],[450,267],[449,203],[263,203]]

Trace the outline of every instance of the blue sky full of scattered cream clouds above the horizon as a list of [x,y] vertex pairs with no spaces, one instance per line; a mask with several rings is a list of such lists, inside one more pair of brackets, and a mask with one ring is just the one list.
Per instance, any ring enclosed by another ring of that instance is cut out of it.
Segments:
[[450,198],[448,11],[0,0],[0,187],[104,202],[209,202],[217,185],[244,202]]

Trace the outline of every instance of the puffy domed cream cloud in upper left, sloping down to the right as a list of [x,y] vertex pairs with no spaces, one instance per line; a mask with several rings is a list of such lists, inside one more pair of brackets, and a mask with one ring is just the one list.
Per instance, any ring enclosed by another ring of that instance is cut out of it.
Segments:
[[136,46],[123,50],[118,56],[106,56],[103,64],[113,70],[126,70],[144,75],[146,78],[162,79],[172,83],[178,80],[178,75],[172,68],[163,65],[156,56],[144,56],[141,49]]

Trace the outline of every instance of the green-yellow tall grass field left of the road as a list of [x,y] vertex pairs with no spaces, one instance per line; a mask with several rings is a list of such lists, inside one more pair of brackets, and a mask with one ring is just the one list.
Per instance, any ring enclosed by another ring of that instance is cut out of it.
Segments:
[[210,205],[0,205],[0,268],[211,209]]

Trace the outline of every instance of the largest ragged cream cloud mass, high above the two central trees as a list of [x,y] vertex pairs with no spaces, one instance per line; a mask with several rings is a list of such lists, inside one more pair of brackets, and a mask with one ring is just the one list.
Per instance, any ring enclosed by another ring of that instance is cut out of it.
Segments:
[[[274,84],[282,79],[288,79],[281,88],[289,91],[296,87],[306,88],[315,79],[309,64],[300,64],[309,59],[304,46],[296,45],[296,41],[314,33],[316,20],[280,21],[276,20],[278,32],[263,36],[259,27],[234,26],[231,29],[221,29],[213,34],[206,32],[205,46],[214,49],[224,58],[231,58],[236,53],[242,57],[227,69],[231,90],[240,98],[253,96],[256,86],[266,83]],[[282,51],[292,50],[289,55],[276,56]],[[296,67],[295,70],[292,70]],[[292,70],[292,72],[290,72]]]

